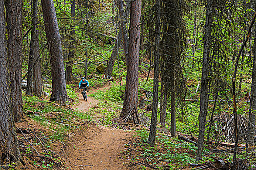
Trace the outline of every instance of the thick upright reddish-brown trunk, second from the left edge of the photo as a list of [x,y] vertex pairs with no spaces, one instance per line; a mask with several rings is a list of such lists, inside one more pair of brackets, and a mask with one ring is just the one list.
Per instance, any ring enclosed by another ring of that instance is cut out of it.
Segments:
[[21,96],[21,7],[21,0],[8,0],[6,3],[8,69],[10,72],[11,105],[15,121],[19,121],[23,117]]

